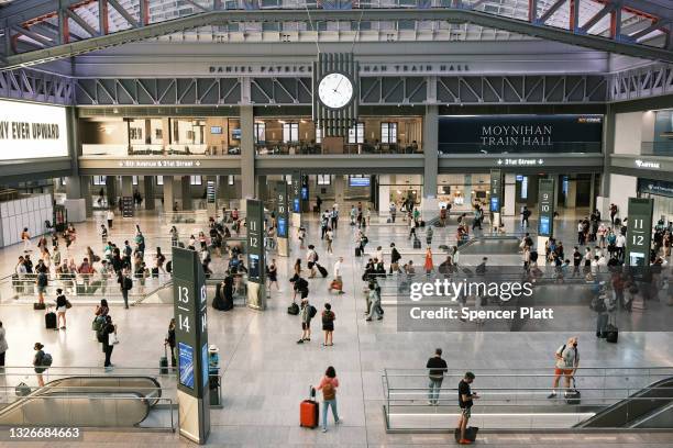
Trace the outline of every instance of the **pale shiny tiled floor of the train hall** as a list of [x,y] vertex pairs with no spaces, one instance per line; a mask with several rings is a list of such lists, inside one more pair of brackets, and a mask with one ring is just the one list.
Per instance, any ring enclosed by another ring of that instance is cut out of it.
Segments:
[[[567,216],[569,214],[566,214]],[[141,214],[136,220],[145,229],[147,247],[156,242],[168,248],[167,229],[161,229],[157,219]],[[312,240],[317,227],[315,219],[307,220]],[[132,236],[135,221],[118,220],[111,237],[115,240]],[[212,434],[210,445],[224,447],[271,446],[445,446],[452,435],[393,435],[386,434],[383,421],[380,374],[384,368],[423,368],[435,347],[444,349],[444,358],[451,369],[508,369],[551,368],[553,350],[563,344],[567,334],[554,333],[400,333],[397,331],[395,309],[387,309],[385,320],[366,323],[363,317],[365,301],[362,289],[362,259],[355,259],[353,229],[341,223],[336,232],[334,255],[320,249],[321,262],[331,269],[336,256],[345,258],[344,281],[346,294],[328,295],[328,279],[310,280],[311,301],[319,309],[330,301],[338,320],[334,346],[322,347],[319,323],[313,325],[313,338],[309,344],[297,345],[300,335],[299,320],[286,313],[290,302],[287,272],[296,257],[304,258],[295,247],[289,259],[276,257],[279,262],[280,291],[272,291],[268,310],[255,312],[235,309],[230,313],[209,311],[209,339],[220,347],[223,365],[222,410],[211,413]],[[531,223],[532,224],[532,223]],[[506,220],[508,231],[517,223]],[[87,245],[100,251],[97,223],[78,224],[78,240],[73,249],[80,259]],[[575,237],[572,216],[559,222],[558,234],[565,239],[569,249]],[[446,242],[445,234],[453,229],[438,229],[433,246]],[[405,226],[373,225],[368,231],[369,247],[378,244],[387,247],[391,240],[398,246],[406,242]],[[451,236],[452,238],[452,236]],[[0,275],[10,275],[20,246],[0,250]],[[402,250],[402,256],[405,250]],[[500,256],[492,262],[509,262]],[[404,256],[407,259],[407,256]],[[417,262],[421,255],[415,255]],[[441,261],[437,259],[435,262]],[[467,260],[464,260],[467,262]],[[131,310],[114,307],[112,316],[119,325],[121,344],[114,349],[113,362],[123,367],[155,367],[163,355],[163,340],[173,307],[168,305],[140,305]],[[32,346],[41,340],[54,356],[55,367],[86,366],[100,368],[102,354],[90,331],[92,309],[76,305],[68,312],[68,329],[47,332],[43,314],[26,305],[3,305],[0,320],[8,332],[10,349],[8,366],[27,366],[32,359]],[[606,345],[591,332],[580,334],[582,365],[610,367],[673,366],[673,333],[620,334],[619,344]],[[334,366],[340,381],[339,411],[345,419],[340,427],[330,427],[327,434],[302,429],[298,426],[298,403],[307,395],[310,384],[316,384],[327,366]],[[0,380],[1,381],[1,380]],[[34,383],[29,377],[5,377],[4,383],[13,388],[19,381]],[[478,384],[478,380],[477,380]],[[454,422],[446,422],[452,427]],[[595,438],[592,438],[595,437]],[[484,434],[481,444],[497,447],[515,446],[671,446],[670,435],[610,434],[577,436]],[[124,443],[124,446],[174,445],[177,439],[165,434],[91,433],[85,437],[87,446]],[[1,446],[1,444],[0,444]],[[30,446],[30,445],[22,445]],[[37,446],[37,445],[35,445]],[[40,446],[47,446],[46,444]],[[52,444],[49,444],[52,446]],[[80,446],[73,444],[73,446]]]

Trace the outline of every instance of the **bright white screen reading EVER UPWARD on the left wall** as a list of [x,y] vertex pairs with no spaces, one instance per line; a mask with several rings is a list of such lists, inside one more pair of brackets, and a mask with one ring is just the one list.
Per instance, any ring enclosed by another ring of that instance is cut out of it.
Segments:
[[0,100],[0,160],[67,156],[66,108]]

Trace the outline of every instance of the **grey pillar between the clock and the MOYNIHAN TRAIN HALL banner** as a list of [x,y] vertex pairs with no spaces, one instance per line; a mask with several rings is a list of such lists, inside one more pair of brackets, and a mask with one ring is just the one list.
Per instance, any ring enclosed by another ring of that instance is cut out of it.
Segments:
[[[427,105],[423,117],[423,199],[421,209],[426,220],[439,214],[437,177],[439,175],[439,107]],[[426,216],[428,214],[428,216]]]

